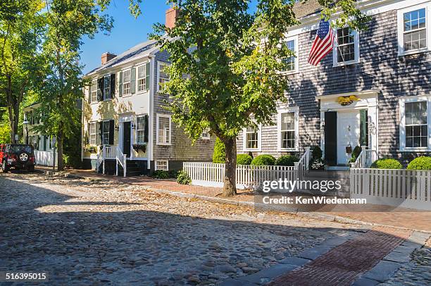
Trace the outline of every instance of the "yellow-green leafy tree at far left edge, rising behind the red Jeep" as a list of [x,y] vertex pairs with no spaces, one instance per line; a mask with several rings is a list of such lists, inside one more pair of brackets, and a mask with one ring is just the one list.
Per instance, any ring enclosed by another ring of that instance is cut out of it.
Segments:
[[40,78],[42,0],[4,0],[0,8],[0,101],[5,101],[11,142],[18,134],[20,104]]

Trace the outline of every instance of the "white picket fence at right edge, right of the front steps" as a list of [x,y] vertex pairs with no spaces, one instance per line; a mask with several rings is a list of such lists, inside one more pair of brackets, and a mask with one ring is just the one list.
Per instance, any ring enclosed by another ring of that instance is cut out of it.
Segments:
[[351,168],[350,197],[431,211],[431,171]]

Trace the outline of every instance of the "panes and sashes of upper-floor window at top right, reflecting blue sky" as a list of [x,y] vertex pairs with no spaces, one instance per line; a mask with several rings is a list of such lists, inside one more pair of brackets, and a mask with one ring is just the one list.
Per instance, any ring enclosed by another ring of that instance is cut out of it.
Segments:
[[404,51],[423,49],[427,46],[425,8],[403,14]]

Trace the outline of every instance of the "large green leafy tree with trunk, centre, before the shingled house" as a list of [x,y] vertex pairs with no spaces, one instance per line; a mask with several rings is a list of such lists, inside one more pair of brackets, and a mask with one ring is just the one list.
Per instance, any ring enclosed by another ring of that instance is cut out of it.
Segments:
[[[294,56],[282,39],[299,23],[295,1],[258,0],[254,13],[248,13],[251,1],[244,0],[169,2],[180,9],[175,27],[154,26],[154,38],[172,63],[165,108],[192,139],[209,128],[225,144],[223,195],[229,197],[236,194],[240,130],[271,123],[277,101],[287,101],[288,81],[279,71],[285,68],[280,59]],[[357,28],[366,19],[354,0],[332,2],[319,0],[323,18],[341,9],[337,25]]]

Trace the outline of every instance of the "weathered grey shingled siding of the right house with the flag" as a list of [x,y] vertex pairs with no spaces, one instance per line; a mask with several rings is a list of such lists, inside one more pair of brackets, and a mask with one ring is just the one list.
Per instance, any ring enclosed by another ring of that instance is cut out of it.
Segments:
[[[333,67],[331,52],[317,67],[311,66],[307,59],[315,36],[316,30],[299,35],[299,73],[289,76],[289,106],[299,106],[300,151],[320,144],[320,104],[316,96],[377,89],[380,154],[404,161],[416,156],[397,151],[399,97],[431,94],[431,53],[398,56],[396,11],[374,15],[368,30],[360,32],[358,64]],[[263,127],[261,153],[278,155],[276,140],[277,126]],[[237,144],[242,153],[242,134]]]

